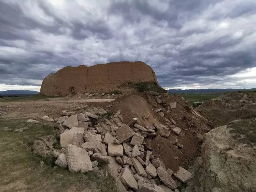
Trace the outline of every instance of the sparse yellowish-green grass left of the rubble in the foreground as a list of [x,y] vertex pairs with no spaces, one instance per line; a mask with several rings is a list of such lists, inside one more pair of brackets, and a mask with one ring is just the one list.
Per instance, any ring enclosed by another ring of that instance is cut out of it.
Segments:
[[[14,131],[24,127],[28,129]],[[42,159],[24,143],[54,132],[48,125],[26,125],[22,119],[0,119],[0,191],[118,191],[110,176],[55,170],[52,162],[41,166]]]

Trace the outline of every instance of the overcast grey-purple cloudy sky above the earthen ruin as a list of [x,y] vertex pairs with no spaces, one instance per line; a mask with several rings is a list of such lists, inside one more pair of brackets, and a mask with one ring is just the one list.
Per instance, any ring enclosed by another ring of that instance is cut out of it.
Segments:
[[0,0],[0,90],[143,61],[166,89],[256,88],[255,0]]

